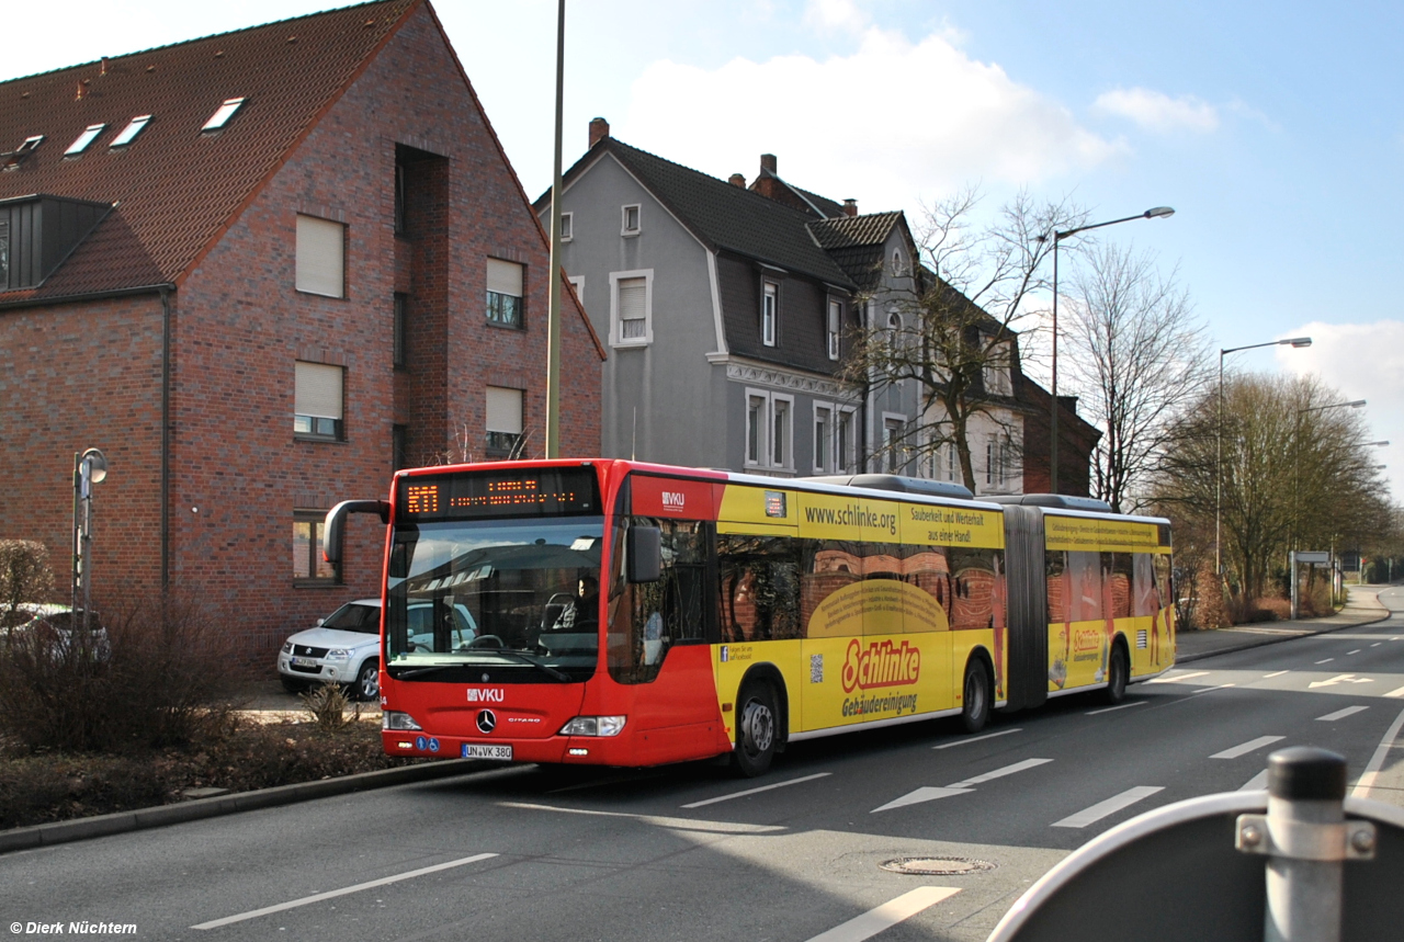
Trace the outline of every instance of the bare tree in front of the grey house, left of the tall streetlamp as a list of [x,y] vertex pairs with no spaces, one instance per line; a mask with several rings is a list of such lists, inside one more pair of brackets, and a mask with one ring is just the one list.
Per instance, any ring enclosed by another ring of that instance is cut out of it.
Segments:
[[970,490],[976,417],[1005,427],[1011,449],[1018,449],[1008,409],[1009,372],[1019,355],[1015,326],[1031,296],[1046,288],[1043,260],[1053,251],[1047,236],[1085,222],[1066,201],[1038,204],[1021,192],[993,223],[977,226],[977,205],[979,194],[967,188],[927,209],[917,234],[922,264],[911,288],[883,289],[879,303],[896,316],[856,331],[842,373],[863,394],[914,382],[920,414],[880,451],[932,460],[955,448]]

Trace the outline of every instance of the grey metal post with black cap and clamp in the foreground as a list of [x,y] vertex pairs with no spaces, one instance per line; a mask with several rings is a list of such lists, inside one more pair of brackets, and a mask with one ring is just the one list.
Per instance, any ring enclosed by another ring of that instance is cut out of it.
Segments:
[[1345,771],[1327,750],[1279,750],[1268,813],[1238,816],[1236,847],[1268,856],[1266,942],[1341,942],[1344,863],[1375,856],[1375,825],[1345,820]]

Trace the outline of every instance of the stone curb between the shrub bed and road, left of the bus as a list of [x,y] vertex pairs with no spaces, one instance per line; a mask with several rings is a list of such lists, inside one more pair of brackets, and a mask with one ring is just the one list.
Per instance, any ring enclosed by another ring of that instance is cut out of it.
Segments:
[[115,811],[97,817],[76,818],[72,821],[53,821],[51,824],[34,824],[31,827],[17,827],[0,831],[0,854],[22,851],[37,847],[51,847],[53,844],[67,844],[70,841],[86,841],[94,837],[110,834],[125,834],[128,831],[143,831],[153,827],[181,824],[184,821],[198,821],[201,818],[236,814],[239,811],[253,811],[256,809],[277,807],[279,804],[293,804],[319,797],[347,795],[351,792],[365,792],[369,789],[389,788],[392,785],[406,785],[410,782],[428,782],[455,775],[466,775],[487,768],[489,764],[480,759],[446,759],[439,762],[421,762],[418,765],[402,765],[393,769],[379,769],[375,772],[361,772],[358,775],[344,775],[341,778],[320,779],[316,782],[299,782],[296,785],[278,785],[253,792],[234,792],[206,799],[180,802],[178,804],[160,804],[157,807],[139,809],[136,811]]

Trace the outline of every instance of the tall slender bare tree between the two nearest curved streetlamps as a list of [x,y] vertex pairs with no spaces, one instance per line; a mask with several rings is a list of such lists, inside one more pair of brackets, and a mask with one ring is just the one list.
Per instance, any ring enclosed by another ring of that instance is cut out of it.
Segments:
[[1209,345],[1177,272],[1163,277],[1130,247],[1094,246],[1084,257],[1064,320],[1070,385],[1102,430],[1092,496],[1130,511],[1175,445],[1174,420],[1207,389]]

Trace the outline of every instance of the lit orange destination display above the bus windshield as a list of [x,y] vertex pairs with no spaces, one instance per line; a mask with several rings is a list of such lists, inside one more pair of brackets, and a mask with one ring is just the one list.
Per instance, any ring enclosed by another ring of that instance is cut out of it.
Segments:
[[600,489],[591,467],[406,477],[400,480],[397,511],[402,519],[421,521],[601,512]]

